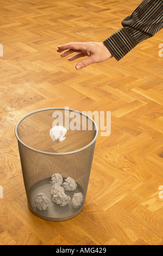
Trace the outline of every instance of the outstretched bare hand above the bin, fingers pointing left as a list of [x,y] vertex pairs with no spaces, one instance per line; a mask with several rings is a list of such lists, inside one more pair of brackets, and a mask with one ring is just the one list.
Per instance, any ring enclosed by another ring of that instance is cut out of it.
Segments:
[[70,61],[88,56],[88,58],[77,63],[77,70],[83,69],[93,63],[104,62],[112,57],[112,54],[108,48],[105,47],[103,42],[69,42],[68,44],[58,46],[57,51],[65,51],[61,53],[61,57],[66,57],[68,54],[77,52],[72,57],[68,58]]

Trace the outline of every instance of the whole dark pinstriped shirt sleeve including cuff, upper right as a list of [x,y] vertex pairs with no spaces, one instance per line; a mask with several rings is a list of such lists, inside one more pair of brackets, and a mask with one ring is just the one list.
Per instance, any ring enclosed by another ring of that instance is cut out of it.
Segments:
[[150,38],[163,27],[163,0],[143,0],[122,21],[122,26],[103,41],[116,60],[123,58],[139,42]]

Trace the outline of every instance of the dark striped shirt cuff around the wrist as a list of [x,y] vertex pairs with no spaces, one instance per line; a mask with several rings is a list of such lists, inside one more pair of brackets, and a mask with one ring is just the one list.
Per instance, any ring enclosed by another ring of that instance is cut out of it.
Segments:
[[124,27],[110,35],[103,43],[116,60],[123,58],[137,45],[137,42]]

